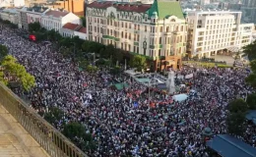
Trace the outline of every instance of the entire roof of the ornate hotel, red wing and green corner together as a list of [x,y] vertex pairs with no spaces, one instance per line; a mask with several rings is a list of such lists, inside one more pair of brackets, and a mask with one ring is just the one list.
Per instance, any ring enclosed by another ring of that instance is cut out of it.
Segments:
[[160,19],[165,17],[175,16],[179,19],[184,19],[181,6],[177,1],[160,1],[155,0],[153,4],[142,3],[118,3],[113,1],[93,2],[88,5],[89,8],[106,9],[114,7],[117,11],[146,13],[152,17],[154,12],[158,13]]

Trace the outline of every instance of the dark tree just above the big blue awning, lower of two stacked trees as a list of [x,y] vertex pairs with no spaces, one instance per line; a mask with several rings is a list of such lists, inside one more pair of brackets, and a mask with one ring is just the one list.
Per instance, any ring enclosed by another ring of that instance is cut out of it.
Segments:
[[226,118],[227,131],[233,135],[242,135],[246,130],[245,113],[230,113]]

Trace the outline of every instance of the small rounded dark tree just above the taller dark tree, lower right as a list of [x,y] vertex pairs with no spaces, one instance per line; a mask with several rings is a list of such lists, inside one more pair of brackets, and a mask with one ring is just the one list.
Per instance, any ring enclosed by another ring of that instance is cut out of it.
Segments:
[[243,99],[235,99],[227,105],[230,113],[246,113],[248,111],[248,105]]

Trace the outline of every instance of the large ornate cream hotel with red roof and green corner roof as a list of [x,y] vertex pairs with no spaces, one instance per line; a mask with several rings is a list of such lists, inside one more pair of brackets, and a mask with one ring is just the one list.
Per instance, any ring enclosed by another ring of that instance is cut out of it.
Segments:
[[179,2],[93,2],[86,14],[89,40],[150,56],[158,69],[163,69],[160,58],[164,68],[180,66],[187,26]]

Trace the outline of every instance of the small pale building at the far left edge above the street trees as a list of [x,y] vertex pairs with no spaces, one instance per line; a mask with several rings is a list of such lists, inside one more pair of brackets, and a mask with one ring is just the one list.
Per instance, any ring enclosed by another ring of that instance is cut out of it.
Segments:
[[0,18],[3,21],[9,21],[12,24],[18,25],[18,11],[16,9],[4,9],[0,12]]

